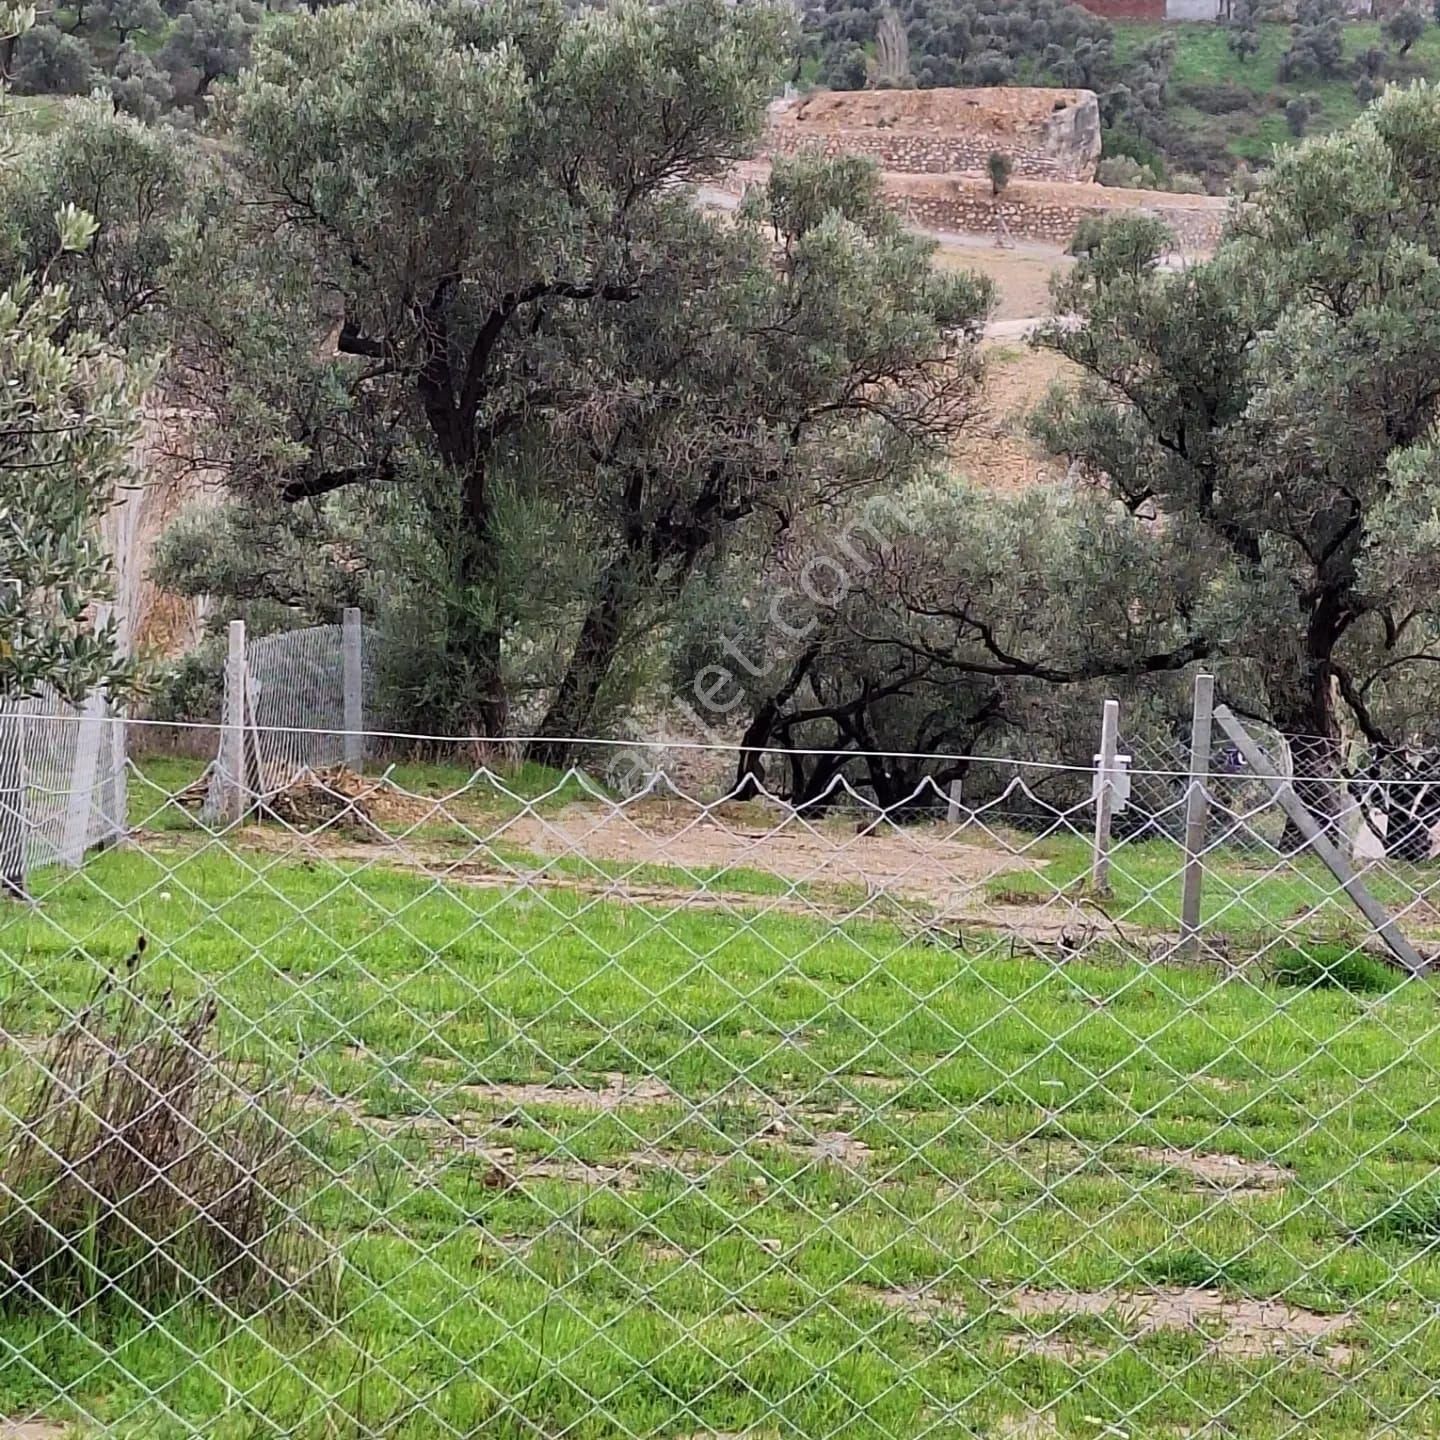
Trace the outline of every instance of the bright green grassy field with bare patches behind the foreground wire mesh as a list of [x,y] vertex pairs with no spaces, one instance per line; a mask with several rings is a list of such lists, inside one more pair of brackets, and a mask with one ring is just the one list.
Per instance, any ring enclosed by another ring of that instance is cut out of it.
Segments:
[[[1122,850],[1122,883],[1146,855]],[[305,1096],[297,1201],[327,1248],[323,1284],[259,1315],[12,1296],[0,1417],[317,1440],[1440,1426],[1430,985],[1104,945],[1054,965],[982,932],[384,858],[154,831],[0,907],[0,1071],[144,933],[137,984],[215,994],[219,1048]],[[1074,863],[1056,845],[1051,878]]]

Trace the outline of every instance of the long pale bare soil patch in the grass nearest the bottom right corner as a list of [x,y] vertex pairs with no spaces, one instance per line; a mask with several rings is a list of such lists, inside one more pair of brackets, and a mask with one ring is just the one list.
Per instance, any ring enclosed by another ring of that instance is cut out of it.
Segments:
[[1253,1359],[1312,1351],[1335,1365],[1351,1356],[1346,1345],[1320,1345],[1354,1323],[1352,1315],[1319,1315],[1283,1300],[1231,1299],[1195,1286],[1162,1290],[1087,1292],[1017,1290],[1007,1309],[1024,1319],[1038,1316],[1113,1316],[1135,1335],[1192,1331],[1218,1355]]

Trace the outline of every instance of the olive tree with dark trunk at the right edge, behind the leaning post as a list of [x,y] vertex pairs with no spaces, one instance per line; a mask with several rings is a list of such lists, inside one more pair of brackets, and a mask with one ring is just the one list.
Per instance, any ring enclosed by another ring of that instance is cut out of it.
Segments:
[[1178,275],[1153,222],[1123,222],[1061,287],[1077,323],[1044,337],[1083,379],[1041,432],[1207,557],[1215,619],[1195,636],[1297,773],[1335,773],[1342,724],[1395,746],[1416,688],[1440,698],[1414,478],[1440,419],[1437,144],[1440,92],[1387,94],[1277,157],[1215,256]]

